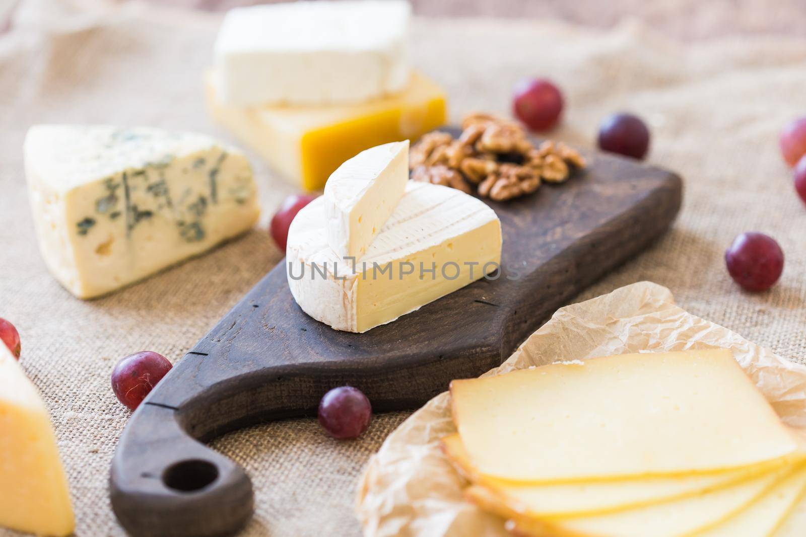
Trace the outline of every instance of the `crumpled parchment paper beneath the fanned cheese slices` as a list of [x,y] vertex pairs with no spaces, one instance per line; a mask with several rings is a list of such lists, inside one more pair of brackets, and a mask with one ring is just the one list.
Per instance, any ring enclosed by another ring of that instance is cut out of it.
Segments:
[[[675,306],[666,287],[650,282],[560,308],[507,361],[485,375],[560,360],[714,347],[732,349],[781,418],[806,427],[806,366],[685,312]],[[366,537],[509,537],[501,518],[463,499],[467,483],[438,445],[442,436],[453,432],[446,392],[388,436],[359,481],[356,513]]]

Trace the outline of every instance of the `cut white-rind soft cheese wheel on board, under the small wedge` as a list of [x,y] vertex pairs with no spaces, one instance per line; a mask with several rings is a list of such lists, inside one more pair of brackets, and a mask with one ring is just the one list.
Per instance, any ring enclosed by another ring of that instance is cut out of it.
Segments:
[[501,263],[501,222],[472,196],[406,184],[397,209],[360,261],[327,244],[325,200],[289,228],[287,275],[302,311],[337,330],[366,332],[481,279]]

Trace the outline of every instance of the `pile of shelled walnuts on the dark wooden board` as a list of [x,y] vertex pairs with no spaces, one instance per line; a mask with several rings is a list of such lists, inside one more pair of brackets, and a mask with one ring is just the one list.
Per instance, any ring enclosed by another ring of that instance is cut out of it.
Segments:
[[412,179],[442,184],[495,201],[511,200],[538,189],[542,181],[562,183],[573,169],[585,167],[577,151],[546,141],[534,147],[518,123],[492,114],[468,114],[462,134],[423,136],[411,149]]

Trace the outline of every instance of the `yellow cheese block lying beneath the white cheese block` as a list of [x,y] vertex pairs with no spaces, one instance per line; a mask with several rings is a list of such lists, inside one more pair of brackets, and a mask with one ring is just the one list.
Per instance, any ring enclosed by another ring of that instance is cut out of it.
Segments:
[[345,160],[368,147],[419,138],[445,123],[447,100],[434,82],[414,73],[401,93],[354,105],[224,105],[207,80],[213,118],[306,190],[325,186]]

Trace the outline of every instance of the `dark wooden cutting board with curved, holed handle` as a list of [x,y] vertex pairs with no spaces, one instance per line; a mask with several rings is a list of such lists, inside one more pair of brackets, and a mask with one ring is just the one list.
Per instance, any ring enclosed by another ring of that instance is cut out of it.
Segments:
[[[306,316],[280,262],[131,416],[110,477],[123,527],[138,536],[231,534],[251,516],[251,481],[203,442],[253,423],[315,415],[334,386],[363,390],[374,411],[408,409],[451,379],[500,365],[555,309],[645,248],[679,211],[675,174],[587,156],[588,169],[565,184],[489,203],[504,235],[501,278],[367,333],[338,332]],[[506,267],[515,266],[521,277],[506,278]]]

